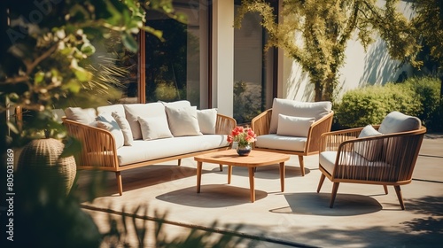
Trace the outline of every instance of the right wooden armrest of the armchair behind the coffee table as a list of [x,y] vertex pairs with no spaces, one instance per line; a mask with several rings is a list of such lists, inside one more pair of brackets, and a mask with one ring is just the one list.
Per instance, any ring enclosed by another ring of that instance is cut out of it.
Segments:
[[316,152],[320,150],[321,136],[324,133],[330,132],[332,126],[332,119],[334,112],[331,111],[323,116],[320,120],[316,120],[307,131],[307,153]]

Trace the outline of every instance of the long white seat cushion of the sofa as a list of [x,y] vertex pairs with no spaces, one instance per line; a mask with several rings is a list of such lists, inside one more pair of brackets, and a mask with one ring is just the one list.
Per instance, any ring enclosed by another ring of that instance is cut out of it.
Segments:
[[224,135],[183,136],[151,141],[136,140],[117,151],[120,166],[152,159],[167,158],[195,151],[229,146]]

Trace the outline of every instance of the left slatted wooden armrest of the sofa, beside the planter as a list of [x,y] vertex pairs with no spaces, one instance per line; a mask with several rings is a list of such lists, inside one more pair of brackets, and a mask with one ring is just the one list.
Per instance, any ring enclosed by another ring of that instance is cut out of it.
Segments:
[[68,120],[66,117],[63,117],[62,121],[69,136],[82,143],[82,151],[74,156],[77,168],[100,167],[114,170],[119,166],[115,139],[111,132]]

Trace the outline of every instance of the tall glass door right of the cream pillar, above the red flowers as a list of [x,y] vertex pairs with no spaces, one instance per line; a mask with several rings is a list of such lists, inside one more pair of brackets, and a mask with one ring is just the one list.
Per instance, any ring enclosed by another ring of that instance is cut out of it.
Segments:
[[[236,2],[236,12],[237,7]],[[234,118],[239,124],[272,104],[274,51],[263,50],[267,35],[260,21],[258,13],[247,13],[234,30]]]

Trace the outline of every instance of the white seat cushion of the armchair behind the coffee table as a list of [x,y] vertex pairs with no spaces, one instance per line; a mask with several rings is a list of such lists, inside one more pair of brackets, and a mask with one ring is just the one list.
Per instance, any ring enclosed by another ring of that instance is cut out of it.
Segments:
[[305,151],[307,137],[264,135],[258,136],[257,148],[269,148],[286,151]]

